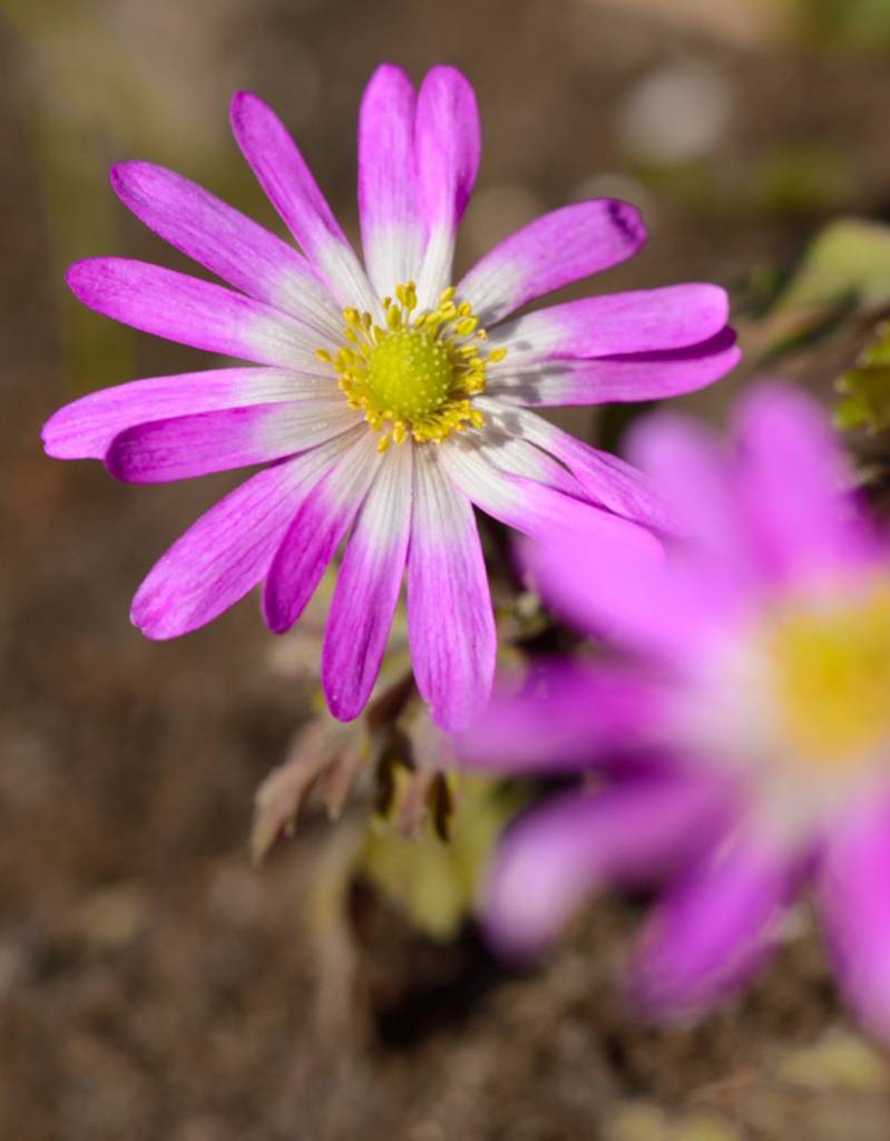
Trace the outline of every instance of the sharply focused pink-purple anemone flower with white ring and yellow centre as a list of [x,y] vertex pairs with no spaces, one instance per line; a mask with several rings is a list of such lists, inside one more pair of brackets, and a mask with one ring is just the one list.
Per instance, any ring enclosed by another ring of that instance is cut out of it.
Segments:
[[495,650],[471,504],[528,534],[556,521],[604,543],[645,543],[636,524],[666,523],[638,472],[526,406],[710,383],[737,359],[726,296],[677,285],[504,322],[639,249],[637,211],[610,200],[545,215],[452,284],[479,160],[472,89],[453,68],[416,95],[393,66],[367,87],[364,267],[273,112],[242,92],[232,124],[302,253],[187,179],[128,162],[112,172],[124,204],[232,288],[120,258],[79,262],[68,283],[98,313],[251,366],[90,395],[47,423],[47,451],[131,483],[267,464],[151,570],[135,624],[176,637],[264,582],[266,621],[284,631],[348,539],[322,657],[331,710],[349,719],[366,703],[404,574],[418,687],[456,727],[484,704]]

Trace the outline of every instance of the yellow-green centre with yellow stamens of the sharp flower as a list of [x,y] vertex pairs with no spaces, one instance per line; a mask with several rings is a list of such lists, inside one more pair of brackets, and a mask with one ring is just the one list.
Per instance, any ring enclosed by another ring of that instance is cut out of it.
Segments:
[[486,365],[502,361],[505,349],[483,351],[486,339],[469,301],[456,305],[454,286],[438,306],[413,316],[418,296],[413,282],[383,298],[386,327],[370,313],[343,309],[343,340],[337,354],[316,356],[337,371],[350,406],[364,412],[378,447],[408,436],[416,444],[442,443],[453,431],[480,427],[482,412],[472,397],[485,388]]

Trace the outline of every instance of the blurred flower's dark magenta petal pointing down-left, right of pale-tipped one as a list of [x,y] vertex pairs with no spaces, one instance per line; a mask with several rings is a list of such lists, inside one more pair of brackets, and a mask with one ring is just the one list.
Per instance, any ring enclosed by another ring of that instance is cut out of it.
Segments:
[[775,945],[776,921],[804,860],[735,834],[696,860],[656,908],[631,970],[641,1005],[689,1014],[751,977]]

